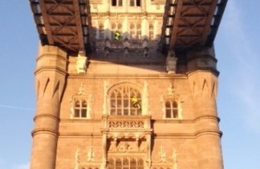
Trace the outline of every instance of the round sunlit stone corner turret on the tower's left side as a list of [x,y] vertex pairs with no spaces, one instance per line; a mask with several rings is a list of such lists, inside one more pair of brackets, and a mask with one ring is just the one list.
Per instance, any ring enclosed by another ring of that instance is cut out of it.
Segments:
[[37,109],[30,169],[55,169],[60,100],[67,62],[67,53],[58,47],[39,46],[35,70]]

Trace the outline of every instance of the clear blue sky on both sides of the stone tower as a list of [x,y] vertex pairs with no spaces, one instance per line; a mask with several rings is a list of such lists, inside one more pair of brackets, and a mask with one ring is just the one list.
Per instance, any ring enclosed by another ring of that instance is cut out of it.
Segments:
[[[229,0],[215,40],[225,169],[260,168],[259,6]],[[1,0],[0,14],[0,169],[28,169],[39,38],[27,0]]]

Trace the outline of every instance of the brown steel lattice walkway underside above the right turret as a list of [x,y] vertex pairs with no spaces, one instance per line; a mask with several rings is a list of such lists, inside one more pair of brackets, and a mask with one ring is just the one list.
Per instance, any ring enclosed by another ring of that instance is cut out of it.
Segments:
[[166,0],[163,50],[212,46],[227,0]]

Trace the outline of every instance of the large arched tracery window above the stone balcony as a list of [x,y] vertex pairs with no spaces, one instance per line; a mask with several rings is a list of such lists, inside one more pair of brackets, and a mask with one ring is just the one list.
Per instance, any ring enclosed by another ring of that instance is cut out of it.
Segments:
[[[133,105],[136,97],[140,108]],[[119,86],[110,93],[110,115],[142,115],[141,93],[131,86]]]

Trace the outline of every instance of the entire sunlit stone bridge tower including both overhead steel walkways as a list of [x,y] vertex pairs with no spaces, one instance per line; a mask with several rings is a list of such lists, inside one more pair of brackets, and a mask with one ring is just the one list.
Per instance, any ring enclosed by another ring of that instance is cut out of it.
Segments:
[[227,0],[29,2],[30,169],[223,169],[213,42]]

